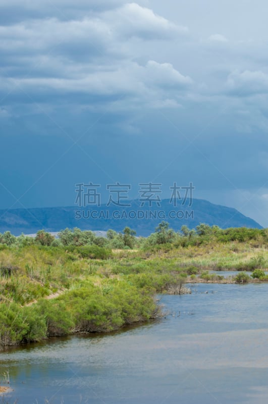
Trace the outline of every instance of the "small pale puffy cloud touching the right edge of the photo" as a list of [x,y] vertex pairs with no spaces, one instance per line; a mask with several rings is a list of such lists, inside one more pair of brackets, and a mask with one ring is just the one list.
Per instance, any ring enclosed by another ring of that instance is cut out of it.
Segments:
[[229,74],[226,88],[235,96],[250,96],[268,92],[268,75],[262,71],[238,70]]

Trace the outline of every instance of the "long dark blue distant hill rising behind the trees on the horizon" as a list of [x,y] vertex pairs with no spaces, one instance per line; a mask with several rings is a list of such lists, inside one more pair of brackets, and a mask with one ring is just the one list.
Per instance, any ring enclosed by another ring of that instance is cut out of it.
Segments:
[[[82,212],[84,210],[84,213]],[[94,211],[94,217],[90,213]],[[137,217],[139,215],[140,218]],[[115,217],[116,216],[116,217]],[[147,218],[146,218],[147,216]],[[149,217],[150,216],[150,217]],[[177,216],[177,217],[176,217]],[[155,227],[165,220],[178,231],[182,225],[189,228],[199,223],[227,227],[261,228],[254,220],[242,215],[236,209],[211,204],[207,200],[193,199],[192,206],[174,207],[169,199],[161,201],[161,206],[140,207],[138,200],[131,201],[131,207],[117,207],[102,205],[99,208],[90,206],[57,207],[57,208],[31,208],[0,210],[0,232],[10,230],[13,234],[36,233],[37,230],[55,232],[66,227],[79,227],[82,230],[106,231],[114,229],[122,231],[125,226],[136,230],[137,235],[147,236]]]

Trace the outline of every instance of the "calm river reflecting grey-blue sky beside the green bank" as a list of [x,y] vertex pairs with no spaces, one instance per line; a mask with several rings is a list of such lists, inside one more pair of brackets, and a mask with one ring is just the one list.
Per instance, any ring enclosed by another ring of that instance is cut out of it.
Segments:
[[158,296],[160,321],[2,352],[7,402],[266,404],[268,285],[191,288]]

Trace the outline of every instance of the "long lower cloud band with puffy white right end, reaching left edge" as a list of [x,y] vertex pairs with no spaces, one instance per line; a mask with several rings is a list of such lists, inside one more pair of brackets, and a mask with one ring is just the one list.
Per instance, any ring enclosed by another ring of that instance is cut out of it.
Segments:
[[[77,77],[75,77],[77,76]],[[171,92],[180,92],[192,84],[192,79],[183,76],[169,63],[149,61],[146,66],[135,62],[125,62],[120,65],[94,67],[91,72],[76,71],[71,77],[29,77],[16,79],[17,88],[34,94],[39,93],[87,93],[93,95],[126,94],[146,98],[153,93],[162,99],[167,99]],[[14,86],[13,79],[2,82],[5,89]],[[150,96],[149,96],[150,98]],[[167,101],[166,101],[167,102]],[[171,100],[169,101],[171,102]]]

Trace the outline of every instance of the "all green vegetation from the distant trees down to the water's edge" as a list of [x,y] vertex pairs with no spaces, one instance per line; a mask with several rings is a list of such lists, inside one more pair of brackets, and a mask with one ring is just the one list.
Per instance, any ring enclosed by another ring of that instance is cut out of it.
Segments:
[[[155,293],[185,282],[267,281],[267,229],[160,223],[147,238],[65,229],[55,238],[0,234],[0,347],[78,332],[106,332],[159,315]],[[251,277],[245,271],[252,271]]]

